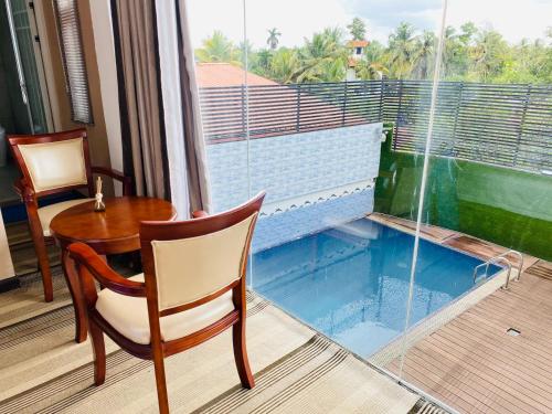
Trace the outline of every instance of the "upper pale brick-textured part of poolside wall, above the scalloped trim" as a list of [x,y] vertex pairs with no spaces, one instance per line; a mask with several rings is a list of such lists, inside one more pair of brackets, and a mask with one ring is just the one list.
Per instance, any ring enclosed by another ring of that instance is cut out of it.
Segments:
[[381,134],[382,124],[371,124],[210,145],[214,209],[247,200],[247,173],[251,194],[265,190],[266,204],[372,180],[380,166]]

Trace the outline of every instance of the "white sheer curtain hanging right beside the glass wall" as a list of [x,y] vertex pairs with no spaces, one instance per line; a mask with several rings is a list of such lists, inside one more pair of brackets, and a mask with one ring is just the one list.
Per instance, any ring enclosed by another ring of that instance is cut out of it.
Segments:
[[183,0],[156,2],[172,203],[181,219],[211,210],[193,49]]

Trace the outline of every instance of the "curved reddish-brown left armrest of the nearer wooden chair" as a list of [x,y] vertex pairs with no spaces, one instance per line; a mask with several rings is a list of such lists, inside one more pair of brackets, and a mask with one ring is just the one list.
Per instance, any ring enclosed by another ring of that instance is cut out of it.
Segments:
[[107,263],[88,245],[73,243],[68,247],[71,258],[81,266],[85,266],[102,286],[117,294],[134,297],[146,297],[146,284],[142,282],[128,280],[112,269]]

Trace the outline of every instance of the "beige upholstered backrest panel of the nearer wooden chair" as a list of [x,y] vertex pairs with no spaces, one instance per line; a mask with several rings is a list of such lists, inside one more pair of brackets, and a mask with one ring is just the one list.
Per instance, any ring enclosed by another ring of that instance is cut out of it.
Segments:
[[256,215],[197,237],[152,241],[159,310],[193,302],[238,279]]

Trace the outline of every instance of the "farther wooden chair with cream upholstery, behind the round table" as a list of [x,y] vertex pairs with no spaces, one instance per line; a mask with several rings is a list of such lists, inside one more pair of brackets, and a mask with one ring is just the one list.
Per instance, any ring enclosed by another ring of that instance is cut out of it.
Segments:
[[44,299],[53,300],[52,273],[46,242],[51,242],[50,222],[63,210],[93,199],[63,201],[39,208],[39,199],[71,190],[85,189],[94,197],[93,173],[112,177],[123,182],[123,193],[131,191],[131,180],[123,173],[104,167],[92,167],[85,129],[57,134],[8,136],[13,157],[22,178],[15,190],[25,204],[31,236],[39,258],[44,286]]

